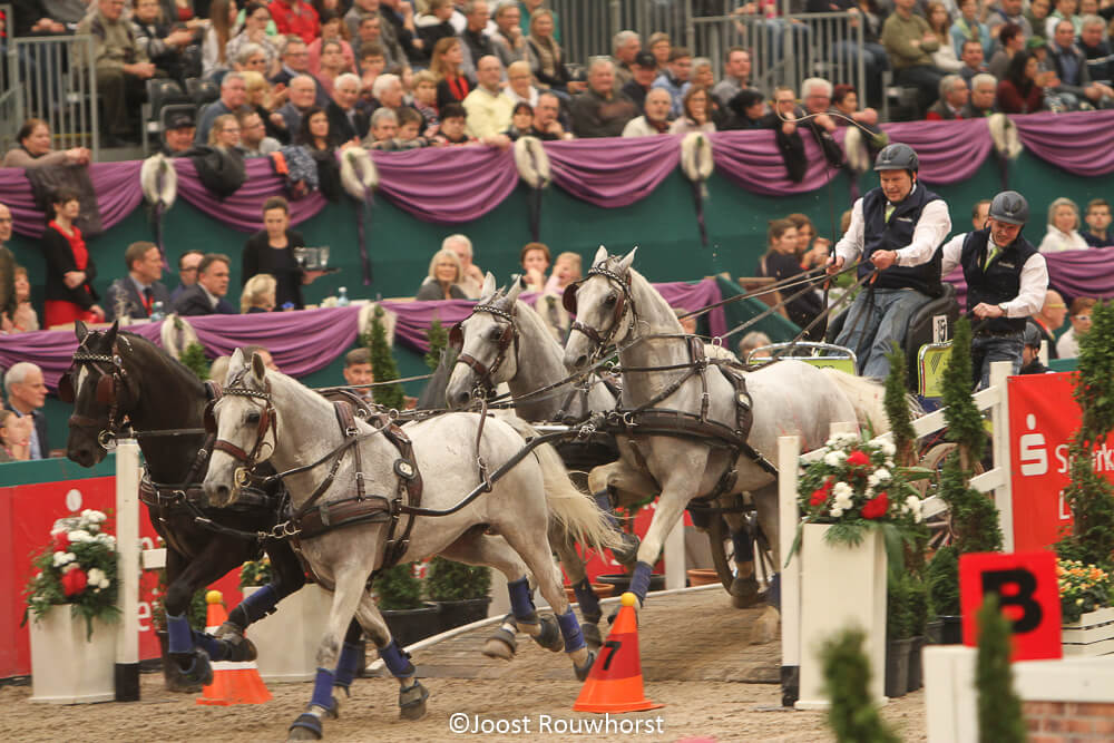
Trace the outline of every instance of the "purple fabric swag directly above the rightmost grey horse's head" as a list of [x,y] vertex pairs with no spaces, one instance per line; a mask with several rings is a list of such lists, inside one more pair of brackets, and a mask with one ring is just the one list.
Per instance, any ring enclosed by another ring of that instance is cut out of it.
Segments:
[[629,206],[649,196],[677,167],[681,136],[551,141],[546,145],[554,183],[603,207]]

